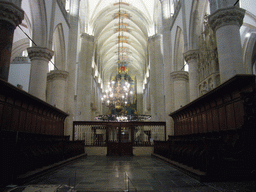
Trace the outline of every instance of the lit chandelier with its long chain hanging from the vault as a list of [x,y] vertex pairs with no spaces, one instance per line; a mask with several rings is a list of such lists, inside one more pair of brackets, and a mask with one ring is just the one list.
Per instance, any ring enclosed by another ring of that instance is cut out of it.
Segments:
[[[117,61],[117,74],[112,77],[108,82],[108,86],[103,93],[102,103],[120,113],[123,109],[131,107],[135,104],[136,90],[135,79],[132,79],[128,74],[128,63],[129,63],[129,50],[124,47],[124,43],[128,43],[128,37],[123,33],[128,31],[127,24],[123,22],[124,18],[129,18],[129,15],[125,12],[121,12],[120,8],[121,1],[119,0],[119,11],[115,14],[114,18],[118,18],[118,61]],[[133,106],[134,107],[134,106]]]

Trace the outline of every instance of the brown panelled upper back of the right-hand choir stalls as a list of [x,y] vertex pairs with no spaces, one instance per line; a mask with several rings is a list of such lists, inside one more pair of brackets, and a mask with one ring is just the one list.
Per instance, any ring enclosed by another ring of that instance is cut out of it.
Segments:
[[255,87],[254,75],[237,75],[171,113],[170,116],[174,119],[174,134],[207,133],[241,128],[247,119],[252,119],[252,115],[249,114],[255,109],[251,109],[253,105],[247,100],[254,101],[256,98],[253,98],[255,97],[253,94],[247,96],[247,93],[255,91]]

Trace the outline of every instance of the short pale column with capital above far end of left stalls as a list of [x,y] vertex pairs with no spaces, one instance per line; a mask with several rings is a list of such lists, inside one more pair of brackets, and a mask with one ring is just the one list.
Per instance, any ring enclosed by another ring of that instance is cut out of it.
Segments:
[[54,70],[47,74],[47,81],[50,83],[48,102],[63,111],[67,77],[67,71]]

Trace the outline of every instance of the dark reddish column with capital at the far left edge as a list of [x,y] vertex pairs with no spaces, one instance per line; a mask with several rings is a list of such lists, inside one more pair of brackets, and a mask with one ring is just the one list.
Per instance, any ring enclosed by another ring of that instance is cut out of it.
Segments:
[[22,22],[21,0],[0,2],[0,78],[8,80],[15,28]]

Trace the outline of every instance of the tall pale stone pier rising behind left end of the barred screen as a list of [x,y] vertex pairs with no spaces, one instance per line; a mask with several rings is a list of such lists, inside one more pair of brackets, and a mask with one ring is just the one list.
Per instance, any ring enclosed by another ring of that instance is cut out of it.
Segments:
[[77,120],[91,121],[92,56],[94,37],[81,35],[81,50],[77,82]]

